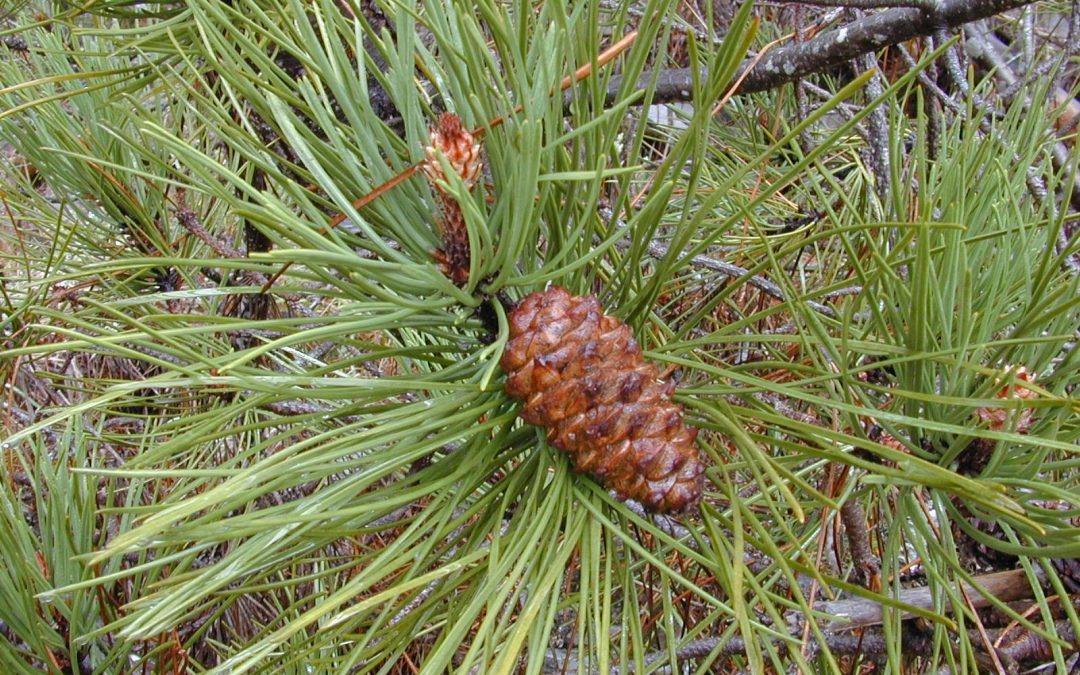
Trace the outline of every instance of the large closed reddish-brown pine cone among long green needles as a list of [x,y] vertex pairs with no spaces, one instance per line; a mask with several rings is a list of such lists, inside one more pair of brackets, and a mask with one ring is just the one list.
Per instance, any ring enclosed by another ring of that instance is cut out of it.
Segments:
[[578,471],[650,511],[697,504],[698,430],[672,403],[674,384],[595,297],[558,286],[527,296],[510,314],[501,365],[507,393],[525,401],[522,419],[545,427]]

